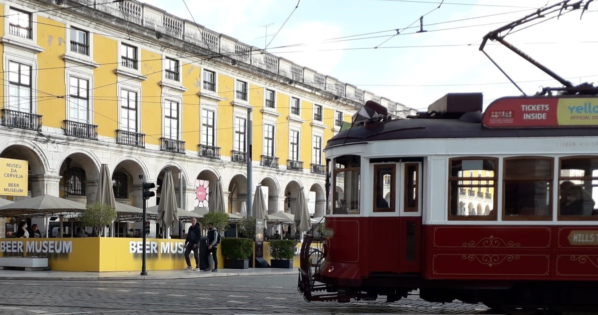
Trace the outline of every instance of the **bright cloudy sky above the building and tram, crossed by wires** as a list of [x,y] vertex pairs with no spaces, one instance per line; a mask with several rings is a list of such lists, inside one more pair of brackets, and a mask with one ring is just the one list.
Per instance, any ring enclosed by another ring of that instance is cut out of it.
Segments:
[[[521,95],[479,50],[481,39],[560,1],[143,2],[245,44],[266,47],[271,54],[341,82],[425,110],[449,92],[482,92],[484,107],[499,97]],[[573,84],[594,82],[598,79],[598,2],[591,3],[583,16],[581,12],[539,18],[504,39]],[[502,44],[488,42],[484,51],[527,95],[542,87],[562,86]]]

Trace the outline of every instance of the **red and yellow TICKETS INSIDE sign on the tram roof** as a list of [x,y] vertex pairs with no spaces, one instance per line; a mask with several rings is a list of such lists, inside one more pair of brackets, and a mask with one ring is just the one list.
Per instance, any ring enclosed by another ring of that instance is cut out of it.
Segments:
[[503,97],[483,118],[488,128],[598,126],[598,97]]

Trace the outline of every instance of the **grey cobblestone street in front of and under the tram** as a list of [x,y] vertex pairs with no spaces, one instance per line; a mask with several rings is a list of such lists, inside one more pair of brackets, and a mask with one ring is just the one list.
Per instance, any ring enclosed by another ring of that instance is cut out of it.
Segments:
[[[184,271],[181,271],[184,272]],[[0,314],[499,314],[483,305],[306,302],[296,274],[140,280],[2,280]]]

